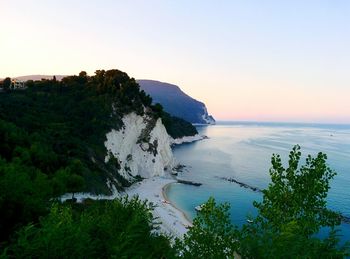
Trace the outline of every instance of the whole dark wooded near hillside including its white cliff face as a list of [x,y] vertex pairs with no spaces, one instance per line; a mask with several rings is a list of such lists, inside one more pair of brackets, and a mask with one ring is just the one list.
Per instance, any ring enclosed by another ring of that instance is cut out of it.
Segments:
[[172,170],[169,135],[197,134],[119,70],[26,85],[0,93],[0,245],[52,198],[110,195]]

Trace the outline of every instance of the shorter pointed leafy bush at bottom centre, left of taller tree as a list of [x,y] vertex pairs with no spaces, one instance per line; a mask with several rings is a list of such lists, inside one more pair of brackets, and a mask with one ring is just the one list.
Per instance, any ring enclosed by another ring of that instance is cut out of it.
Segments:
[[177,239],[178,255],[183,258],[233,258],[237,230],[231,224],[228,210],[228,204],[216,205],[210,198],[184,239]]

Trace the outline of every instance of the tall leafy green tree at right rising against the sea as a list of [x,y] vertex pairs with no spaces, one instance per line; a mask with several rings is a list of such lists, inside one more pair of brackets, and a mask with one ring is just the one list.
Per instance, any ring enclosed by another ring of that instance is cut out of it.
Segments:
[[[244,257],[343,258],[347,247],[338,246],[335,226],[340,215],[327,209],[330,180],[336,175],[323,153],[306,158],[299,167],[300,147],[289,155],[288,168],[279,155],[272,156],[271,183],[263,201],[254,202],[258,216],[243,226],[239,251]],[[325,240],[315,237],[321,227],[330,227]]]

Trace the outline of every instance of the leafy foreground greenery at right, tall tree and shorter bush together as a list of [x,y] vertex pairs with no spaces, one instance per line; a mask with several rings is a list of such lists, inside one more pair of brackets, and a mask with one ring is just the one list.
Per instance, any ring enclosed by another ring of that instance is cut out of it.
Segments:
[[[300,147],[295,146],[284,168],[273,155],[271,183],[263,201],[255,202],[258,216],[237,229],[230,223],[228,205],[210,198],[183,240],[177,255],[183,258],[344,258],[349,244],[339,244],[340,215],[326,207],[330,180],[336,175],[326,164],[327,156],[307,156],[299,166]],[[330,228],[327,238],[317,238],[321,227]]]

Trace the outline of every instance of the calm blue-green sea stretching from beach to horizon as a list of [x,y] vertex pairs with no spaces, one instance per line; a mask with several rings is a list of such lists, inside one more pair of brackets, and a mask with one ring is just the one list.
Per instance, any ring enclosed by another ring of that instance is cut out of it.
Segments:
[[[189,218],[195,206],[210,196],[231,205],[231,220],[241,226],[246,217],[256,215],[252,203],[262,195],[218,177],[234,177],[264,189],[270,181],[271,156],[278,153],[284,163],[295,144],[301,146],[302,163],[308,154],[322,151],[338,174],[331,184],[328,207],[350,217],[350,125],[221,122],[198,127],[209,139],[180,145],[174,149],[179,163],[186,165],[181,178],[200,182],[200,187],[172,184],[169,199]],[[342,224],[342,241],[350,240],[350,225]],[[320,235],[324,235],[325,231]]]

